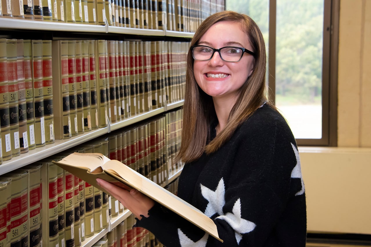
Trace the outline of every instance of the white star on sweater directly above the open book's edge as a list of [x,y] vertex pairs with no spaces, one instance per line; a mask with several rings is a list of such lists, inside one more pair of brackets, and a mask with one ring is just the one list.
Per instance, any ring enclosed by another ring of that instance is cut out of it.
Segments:
[[223,215],[223,206],[226,204],[224,199],[224,194],[226,193],[226,189],[224,187],[224,180],[223,178],[220,179],[216,190],[210,190],[209,188],[201,186],[201,194],[202,196],[209,201],[206,206],[205,213],[206,216],[211,217],[214,214]]

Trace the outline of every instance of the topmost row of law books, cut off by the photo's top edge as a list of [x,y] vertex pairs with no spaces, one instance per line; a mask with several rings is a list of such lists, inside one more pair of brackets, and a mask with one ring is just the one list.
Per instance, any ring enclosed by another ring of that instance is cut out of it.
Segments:
[[1,0],[0,17],[194,32],[221,0]]

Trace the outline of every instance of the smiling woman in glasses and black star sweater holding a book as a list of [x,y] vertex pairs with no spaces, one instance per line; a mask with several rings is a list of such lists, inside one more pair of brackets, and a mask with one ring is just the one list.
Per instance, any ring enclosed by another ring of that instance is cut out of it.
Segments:
[[165,246],[305,246],[299,154],[266,98],[266,53],[250,17],[208,17],[188,52],[178,196],[217,225],[221,243],[138,191],[98,183]]

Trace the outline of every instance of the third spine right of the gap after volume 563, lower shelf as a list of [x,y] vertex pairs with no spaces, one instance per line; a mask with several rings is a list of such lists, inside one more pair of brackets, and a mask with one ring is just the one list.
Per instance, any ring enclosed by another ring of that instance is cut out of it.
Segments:
[[65,172],[65,245],[75,246],[74,176]]

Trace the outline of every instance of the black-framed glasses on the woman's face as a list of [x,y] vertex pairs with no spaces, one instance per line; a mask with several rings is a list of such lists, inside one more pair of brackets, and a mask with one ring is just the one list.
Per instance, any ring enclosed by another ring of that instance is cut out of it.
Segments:
[[249,53],[255,56],[255,53],[243,47],[225,46],[219,49],[214,49],[210,46],[191,46],[192,56],[194,60],[206,61],[218,52],[221,59],[227,62],[238,62],[242,59],[243,54]]

